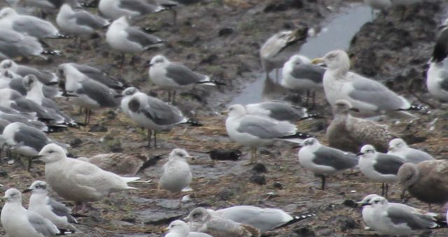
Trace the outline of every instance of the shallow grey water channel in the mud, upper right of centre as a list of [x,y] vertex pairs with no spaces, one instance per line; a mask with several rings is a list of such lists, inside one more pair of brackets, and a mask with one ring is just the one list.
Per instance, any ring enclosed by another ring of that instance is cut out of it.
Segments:
[[[370,22],[370,7],[360,3],[353,3],[342,8],[340,13],[330,17],[324,23],[321,32],[314,37],[307,38],[307,43],[302,45],[300,55],[309,58],[322,57],[331,50],[348,50],[351,38],[366,22]],[[269,74],[270,78],[276,78],[275,71]],[[279,70],[281,78],[281,70]],[[275,79],[274,79],[275,80]],[[265,80],[265,74],[261,73],[257,80],[248,84],[238,96],[235,96],[231,104],[256,103],[266,99],[278,99],[284,96],[286,90],[280,88],[275,82]]]

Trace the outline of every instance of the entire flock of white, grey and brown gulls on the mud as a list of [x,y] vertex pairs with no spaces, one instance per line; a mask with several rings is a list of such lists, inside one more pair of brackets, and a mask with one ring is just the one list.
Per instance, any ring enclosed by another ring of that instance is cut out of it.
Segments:
[[[148,131],[148,148],[157,147],[157,133],[178,124],[202,126],[183,115],[174,106],[179,89],[195,85],[225,86],[207,75],[193,71],[179,62],[171,62],[164,55],[155,55],[148,62],[148,77],[158,88],[167,91],[162,101],[140,92],[125,80],[114,78],[89,65],[69,62],[59,64],[55,72],[41,71],[34,59],[47,60],[63,54],[45,43],[53,38],[73,39],[73,47],[82,50],[83,41],[92,34],[105,32],[109,49],[134,56],[145,50],[157,51],[165,41],[135,27],[132,21],[146,14],[162,10],[173,11],[176,26],[176,1],[100,0],[100,15],[85,10],[92,3],[76,0],[22,0],[39,10],[36,17],[20,13],[20,1],[8,0],[10,7],[0,10],[0,141],[1,149],[45,163],[45,181],[36,180],[28,189],[6,190],[1,209],[1,224],[10,237],[53,236],[80,233],[73,213],[88,213],[87,202],[101,201],[113,192],[136,189],[137,173],[148,161],[140,154],[102,154],[95,157],[69,157],[69,145],[54,141],[48,133],[66,131],[89,124],[92,111],[99,108],[120,108],[138,127]],[[416,1],[365,0],[372,11],[386,10],[395,5]],[[178,6],[179,7],[179,6]],[[56,13],[55,21],[46,20]],[[35,14],[36,15],[36,14]],[[440,101],[448,101],[448,20],[442,25],[433,55],[428,62],[428,92]],[[326,129],[324,145],[312,134],[300,131],[295,122],[321,119],[321,115],[284,101],[264,101],[248,105],[235,104],[223,113],[228,114],[225,129],[229,138],[250,148],[250,162],[258,162],[257,149],[276,141],[287,141],[300,146],[300,165],[321,178],[325,189],[326,178],[343,171],[359,169],[367,179],[382,183],[381,196],[369,194],[358,202],[367,229],[378,234],[404,236],[416,231],[446,227],[441,215],[388,201],[388,185],[400,183],[403,192],[431,204],[448,201],[448,162],[434,159],[421,150],[409,147],[397,134],[371,117],[393,117],[412,122],[424,116],[424,106],[412,104],[403,96],[382,85],[350,71],[349,55],[334,50],[322,58],[308,59],[297,55],[307,30],[281,31],[267,39],[260,48],[262,68],[266,80],[276,70],[276,82],[295,92],[307,91],[307,106],[316,103],[316,92],[325,94],[333,113]],[[45,49],[45,50],[44,50]],[[15,59],[22,58],[22,62]],[[278,69],[283,68],[279,76]],[[280,79],[279,79],[280,77]],[[309,97],[311,96],[311,101]],[[59,108],[54,99],[64,97],[85,110],[85,120],[78,122]],[[7,148],[7,149],[5,149]],[[237,157],[241,153],[235,153]],[[210,153],[220,156],[220,153]],[[194,179],[186,150],[176,148],[168,155],[158,181],[159,189],[179,194],[191,190]],[[160,159],[160,157],[158,158]],[[14,162],[14,160],[10,160]],[[9,162],[9,161],[8,161]],[[130,171],[122,168],[130,167]],[[200,191],[200,190],[197,190]],[[22,193],[30,192],[28,209],[22,206]],[[55,201],[73,201],[73,210]],[[277,208],[231,206],[221,210],[194,208],[183,220],[175,220],[167,227],[168,237],[181,236],[260,236],[288,224],[293,224],[313,213],[293,216]]]

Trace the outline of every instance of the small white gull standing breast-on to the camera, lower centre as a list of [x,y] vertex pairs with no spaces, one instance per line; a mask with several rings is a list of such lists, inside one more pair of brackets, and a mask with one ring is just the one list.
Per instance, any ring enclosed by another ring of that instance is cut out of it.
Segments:
[[[193,175],[186,159],[191,158],[188,152],[176,148],[169,153],[168,161],[162,167],[163,173],[159,180],[160,187],[169,192],[180,193],[189,187]],[[179,206],[182,207],[182,196],[179,199]]]

